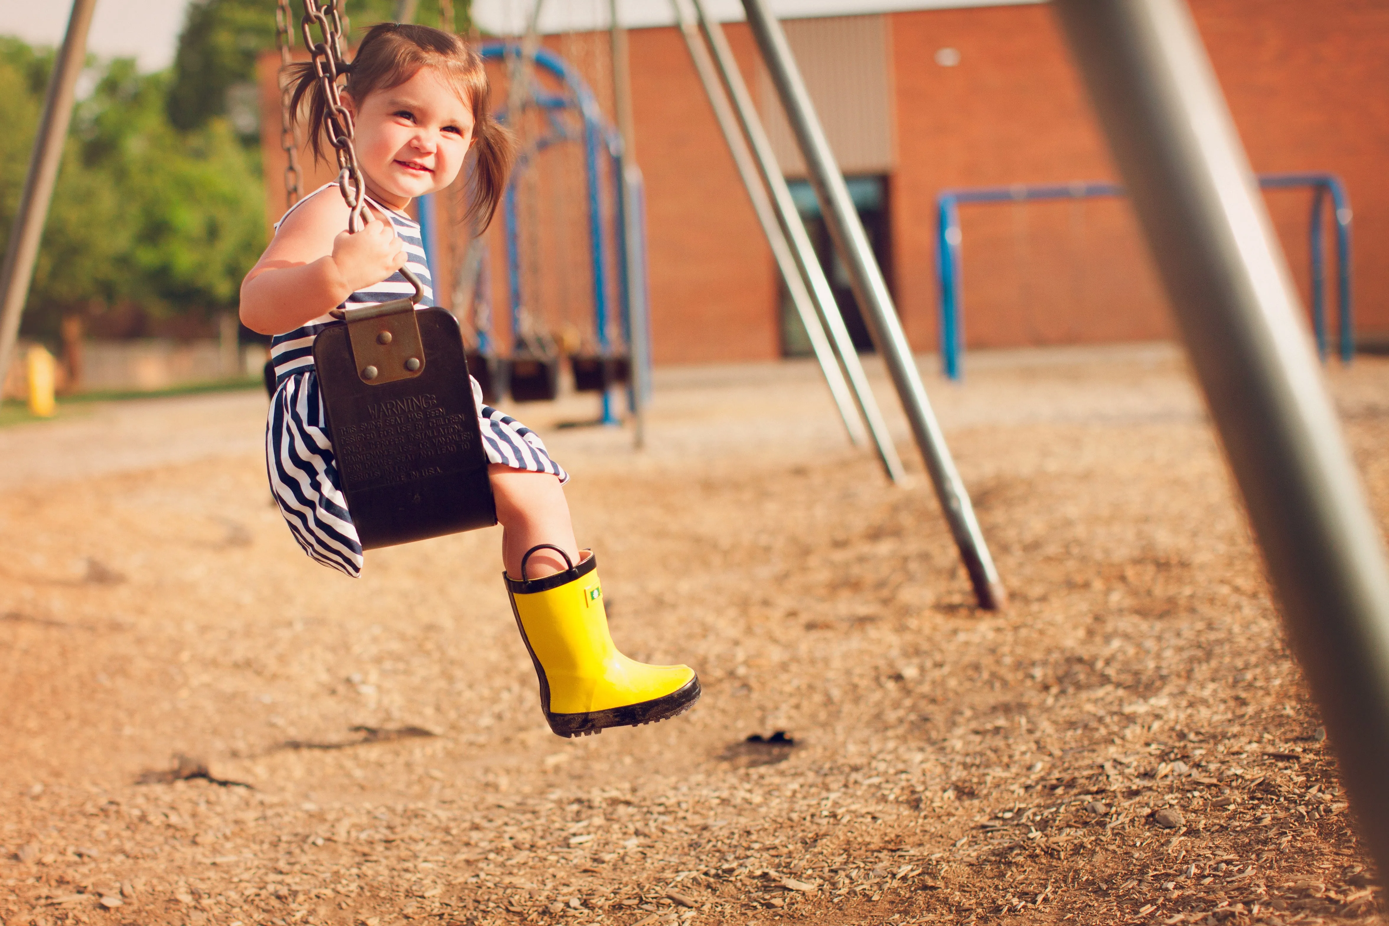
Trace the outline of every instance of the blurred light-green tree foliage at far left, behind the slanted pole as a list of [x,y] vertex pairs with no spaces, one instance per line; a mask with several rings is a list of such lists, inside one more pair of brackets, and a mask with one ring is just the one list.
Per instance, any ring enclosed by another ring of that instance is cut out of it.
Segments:
[[[0,39],[0,243],[19,205],[53,54]],[[169,125],[169,74],[93,65],[74,112],[44,225],[24,330],[133,303],[153,317],[236,305],[265,243],[258,158],[225,119]]]

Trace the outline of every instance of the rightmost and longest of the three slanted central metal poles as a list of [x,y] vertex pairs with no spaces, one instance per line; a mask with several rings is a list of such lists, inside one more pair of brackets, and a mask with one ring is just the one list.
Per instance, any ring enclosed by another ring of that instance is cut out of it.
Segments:
[[767,64],[772,83],[776,85],[801,155],[806,158],[811,186],[814,186],[815,197],[820,200],[835,250],[849,269],[854,296],[864,310],[864,318],[872,332],[874,342],[888,364],[893,386],[896,386],[903,410],[911,422],[911,430],[921,448],[926,471],[931,473],[936,498],[940,501],[940,508],[950,525],[950,533],[960,548],[964,568],[970,573],[975,598],[981,608],[989,611],[1001,608],[1007,601],[1007,594],[999,580],[993,557],[989,554],[983,533],[979,530],[974,505],[970,504],[970,494],[965,491],[954,460],[950,457],[950,448],[946,447],[940,423],[931,410],[925,386],[921,385],[921,373],[911,355],[911,346],[901,330],[901,322],[897,321],[892,296],[888,293],[888,283],[872,255],[868,236],[863,222],[858,221],[858,212],[849,197],[849,187],[845,185],[835,155],[829,150],[829,142],[825,140],[825,132],[815,115],[810,94],[806,92],[800,69],[796,67],[790,46],[786,43],[786,35],[768,8],[767,0],[743,0],[743,8],[747,11],[747,22],[757,39],[758,49],[761,49],[763,61]]

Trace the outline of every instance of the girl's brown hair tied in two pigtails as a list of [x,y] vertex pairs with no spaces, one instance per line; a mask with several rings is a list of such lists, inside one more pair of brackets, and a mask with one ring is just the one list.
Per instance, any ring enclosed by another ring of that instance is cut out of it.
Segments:
[[[326,160],[332,151],[324,118],[328,100],[314,75],[313,64],[290,67],[293,87],[290,112],[297,122],[301,115],[300,106],[307,97],[308,147],[315,160]],[[468,178],[469,201],[464,222],[475,224],[475,232],[481,233],[497,211],[515,157],[511,133],[492,117],[488,72],[482,65],[482,56],[450,32],[411,24],[381,22],[372,26],[357,46],[356,57],[344,69],[347,83],[343,92],[360,107],[374,90],[400,86],[415,76],[419,68],[438,68],[440,74],[447,75],[458,96],[472,108],[469,157],[474,168]]]

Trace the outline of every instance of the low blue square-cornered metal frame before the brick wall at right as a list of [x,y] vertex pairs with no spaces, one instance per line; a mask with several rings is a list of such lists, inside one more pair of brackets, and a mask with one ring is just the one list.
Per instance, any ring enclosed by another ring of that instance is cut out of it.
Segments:
[[[1258,185],[1265,190],[1311,187],[1308,250],[1311,253],[1311,317],[1317,351],[1329,353],[1325,305],[1325,260],[1322,207],[1331,197],[1336,228],[1336,296],[1340,360],[1349,364],[1356,351],[1350,298],[1350,199],[1333,174],[1267,174]],[[960,379],[964,360],[964,235],[960,205],[967,203],[1026,203],[1036,200],[1083,200],[1124,196],[1122,186],[1104,182],[1053,183],[1043,186],[981,186],[942,190],[936,194],[936,282],[940,298],[940,362],[950,379]]]

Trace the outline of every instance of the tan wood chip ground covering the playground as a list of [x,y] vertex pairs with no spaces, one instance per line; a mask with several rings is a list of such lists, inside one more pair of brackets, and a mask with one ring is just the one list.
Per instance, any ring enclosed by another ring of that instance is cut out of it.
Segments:
[[[1382,518],[1389,364],[1329,372]],[[0,922],[1381,922],[1172,351],[928,379],[1003,614],[813,368],[663,376],[642,454],[554,428],[588,400],[517,410],[619,646],[706,691],[581,741],[539,716],[496,532],[314,566],[263,397],[0,429]]]

